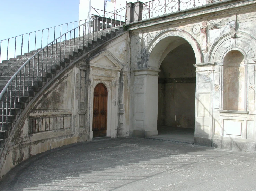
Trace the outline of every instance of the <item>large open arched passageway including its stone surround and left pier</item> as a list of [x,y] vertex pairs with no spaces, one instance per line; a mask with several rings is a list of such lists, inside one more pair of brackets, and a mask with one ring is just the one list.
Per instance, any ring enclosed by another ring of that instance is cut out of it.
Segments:
[[201,62],[200,46],[185,31],[166,30],[150,42],[140,63],[143,68],[133,70],[132,74],[133,136],[160,138],[165,131],[163,136],[170,138],[173,132],[169,127],[174,127],[188,130],[189,142],[193,142],[196,100],[193,64]]

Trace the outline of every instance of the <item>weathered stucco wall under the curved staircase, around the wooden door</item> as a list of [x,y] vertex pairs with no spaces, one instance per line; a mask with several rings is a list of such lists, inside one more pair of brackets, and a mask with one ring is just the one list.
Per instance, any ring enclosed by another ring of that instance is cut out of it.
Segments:
[[0,177],[38,153],[92,140],[93,88],[109,88],[107,136],[128,136],[130,36],[125,32],[71,63],[37,93],[16,122]]

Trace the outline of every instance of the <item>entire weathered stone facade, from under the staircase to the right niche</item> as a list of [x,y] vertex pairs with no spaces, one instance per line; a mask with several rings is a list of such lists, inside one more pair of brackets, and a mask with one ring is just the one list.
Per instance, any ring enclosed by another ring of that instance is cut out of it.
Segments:
[[92,140],[99,83],[108,92],[108,137],[149,137],[166,125],[195,129],[197,145],[256,151],[256,1],[143,21],[140,3],[127,9],[128,32],[81,56],[29,103],[1,176],[37,153]]

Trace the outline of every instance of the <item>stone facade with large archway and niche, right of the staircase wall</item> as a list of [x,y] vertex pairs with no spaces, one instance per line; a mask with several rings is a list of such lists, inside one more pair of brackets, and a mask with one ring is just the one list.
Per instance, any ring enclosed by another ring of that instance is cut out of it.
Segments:
[[228,1],[129,23],[130,133],[157,135],[158,121],[195,128],[198,145],[255,152],[254,20],[255,2]]

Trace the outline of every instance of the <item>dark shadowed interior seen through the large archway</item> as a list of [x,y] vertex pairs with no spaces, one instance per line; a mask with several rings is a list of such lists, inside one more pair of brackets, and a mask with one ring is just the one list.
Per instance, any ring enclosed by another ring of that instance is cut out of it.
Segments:
[[158,138],[194,142],[196,63],[186,42],[162,61],[158,80]]

